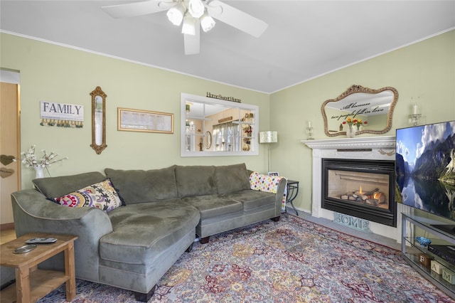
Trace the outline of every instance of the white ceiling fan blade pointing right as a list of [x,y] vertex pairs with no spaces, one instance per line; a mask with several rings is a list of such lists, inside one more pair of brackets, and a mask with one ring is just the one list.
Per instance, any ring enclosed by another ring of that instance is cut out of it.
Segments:
[[[221,9],[220,9],[221,8]],[[208,4],[210,16],[258,38],[269,26],[262,20],[218,0]]]

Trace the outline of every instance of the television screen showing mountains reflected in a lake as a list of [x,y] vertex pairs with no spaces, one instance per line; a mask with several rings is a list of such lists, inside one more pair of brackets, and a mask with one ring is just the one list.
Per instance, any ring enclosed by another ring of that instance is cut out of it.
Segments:
[[455,220],[455,121],[397,129],[395,169],[397,200]]

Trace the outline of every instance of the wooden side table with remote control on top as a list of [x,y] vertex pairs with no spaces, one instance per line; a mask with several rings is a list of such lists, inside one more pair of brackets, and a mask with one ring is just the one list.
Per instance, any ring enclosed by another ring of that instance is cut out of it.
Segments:
[[[16,248],[25,245],[30,238],[57,238],[53,244],[38,244],[30,252],[15,254]],[[0,265],[15,267],[16,287],[11,285],[1,291],[1,302],[36,302],[58,286],[66,283],[66,299],[72,301],[76,295],[74,264],[75,235],[29,233],[16,240],[0,245]],[[65,272],[38,270],[37,265],[59,252],[65,254]],[[14,292],[16,288],[16,292]],[[4,301],[5,300],[5,301]],[[8,300],[8,301],[6,301]]]

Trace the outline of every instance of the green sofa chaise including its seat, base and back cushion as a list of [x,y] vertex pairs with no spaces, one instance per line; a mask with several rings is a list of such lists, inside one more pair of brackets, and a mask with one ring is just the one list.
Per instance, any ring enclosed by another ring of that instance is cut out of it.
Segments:
[[174,169],[105,169],[126,205],[109,212],[114,231],[100,240],[100,277],[107,284],[153,289],[193,245],[200,215],[178,198]]

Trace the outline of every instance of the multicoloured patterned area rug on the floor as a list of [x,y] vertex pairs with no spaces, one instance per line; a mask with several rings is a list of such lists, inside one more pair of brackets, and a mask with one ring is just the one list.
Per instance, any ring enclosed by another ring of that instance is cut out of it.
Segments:
[[[65,302],[65,287],[39,302]],[[73,302],[136,302],[132,292],[77,280]],[[454,302],[400,252],[289,216],[195,243],[149,302]]]

